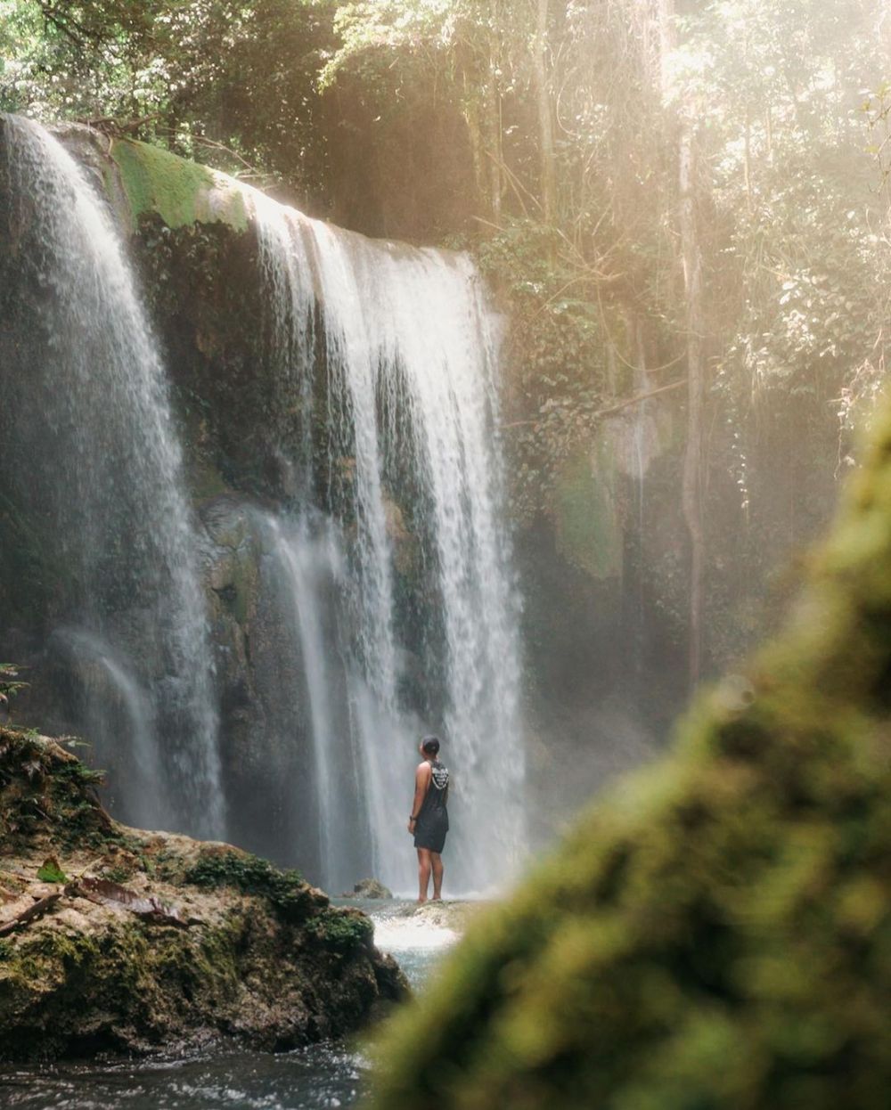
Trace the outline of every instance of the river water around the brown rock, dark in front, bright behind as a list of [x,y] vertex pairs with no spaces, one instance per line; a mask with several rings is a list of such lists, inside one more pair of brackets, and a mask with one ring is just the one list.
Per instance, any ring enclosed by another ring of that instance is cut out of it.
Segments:
[[[355,905],[355,904],[353,904]],[[423,987],[457,935],[418,917],[407,904],[362,906],[375,944],[392,952],[413,988]],[[345,1043],[272,1054],[216,1047],[163,1060],[61,1063],[0,1071],[3,1110],[328,1110],[361,1098],[367,1062]]]

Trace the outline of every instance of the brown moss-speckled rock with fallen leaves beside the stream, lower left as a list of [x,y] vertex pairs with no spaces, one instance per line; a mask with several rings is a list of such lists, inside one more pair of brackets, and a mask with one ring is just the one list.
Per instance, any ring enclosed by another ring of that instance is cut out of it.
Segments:
[[95,780],[0,728],[0,1062],[217,1036],[285,1049],[403,996],[363,914],[229,845],[125,828]]

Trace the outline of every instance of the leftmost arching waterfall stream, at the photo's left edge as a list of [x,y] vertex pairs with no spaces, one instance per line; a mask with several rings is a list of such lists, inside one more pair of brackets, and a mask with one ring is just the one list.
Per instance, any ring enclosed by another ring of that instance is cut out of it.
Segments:
[[[69,652],[101,644],[90,654],[130,715],[123,737],[91,737],[99,759],[114,758],[123,739],[131,764],[151,773],[140,776],[139,817],[171,814],[189,831],[219,835],[212,662],[158,344],[88,171],[39,124],[7,117],[4,127],[10,241],[26,290],[13,303],[31,339],[4,386],[16,412],[4,471],[51,535],[55,593],[81,637]],[[102,720],[88,707],[84,724],[102,734]]]

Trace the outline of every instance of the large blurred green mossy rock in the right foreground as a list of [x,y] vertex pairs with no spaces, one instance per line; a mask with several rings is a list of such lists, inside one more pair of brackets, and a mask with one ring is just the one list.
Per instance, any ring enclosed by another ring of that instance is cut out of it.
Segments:
[[397,1015],[374,1106],[884,1108],[891,412],[786,633]]

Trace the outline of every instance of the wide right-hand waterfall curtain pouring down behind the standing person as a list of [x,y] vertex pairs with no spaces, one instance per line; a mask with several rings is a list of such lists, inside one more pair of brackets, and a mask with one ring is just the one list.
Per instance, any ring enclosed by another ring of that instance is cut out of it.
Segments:
[[[441,733],[454,784],[450,889],[490,889],[525,846],[517,604],[500,522],[497,317],[466,256],[372,241],[245,192],[272,356],[284,394],[304,415],[301,442],[282,445],[305,468],[295,513],[304,522],[326,514],[326,542],[350,563],[340,619],[351,719],[348,735],[332,735],[331,678],[313,646],[307,576],[318,541],[300,523],[288,526],[284,546],[279,533],[310,685],[320,823],[355,826],[361,809],[368,867],[411,890],[405,825],[416,745],[422,730]],[[405,517],[419,566],[397,588],[393,533]],[[408,656],[426,676],[423,693],[406,694]],[[332,745],[351,748],[357,794],[343,780],[332,789]],[[341,871],[325,834],[322,844],[330,882],[330,869]]]

